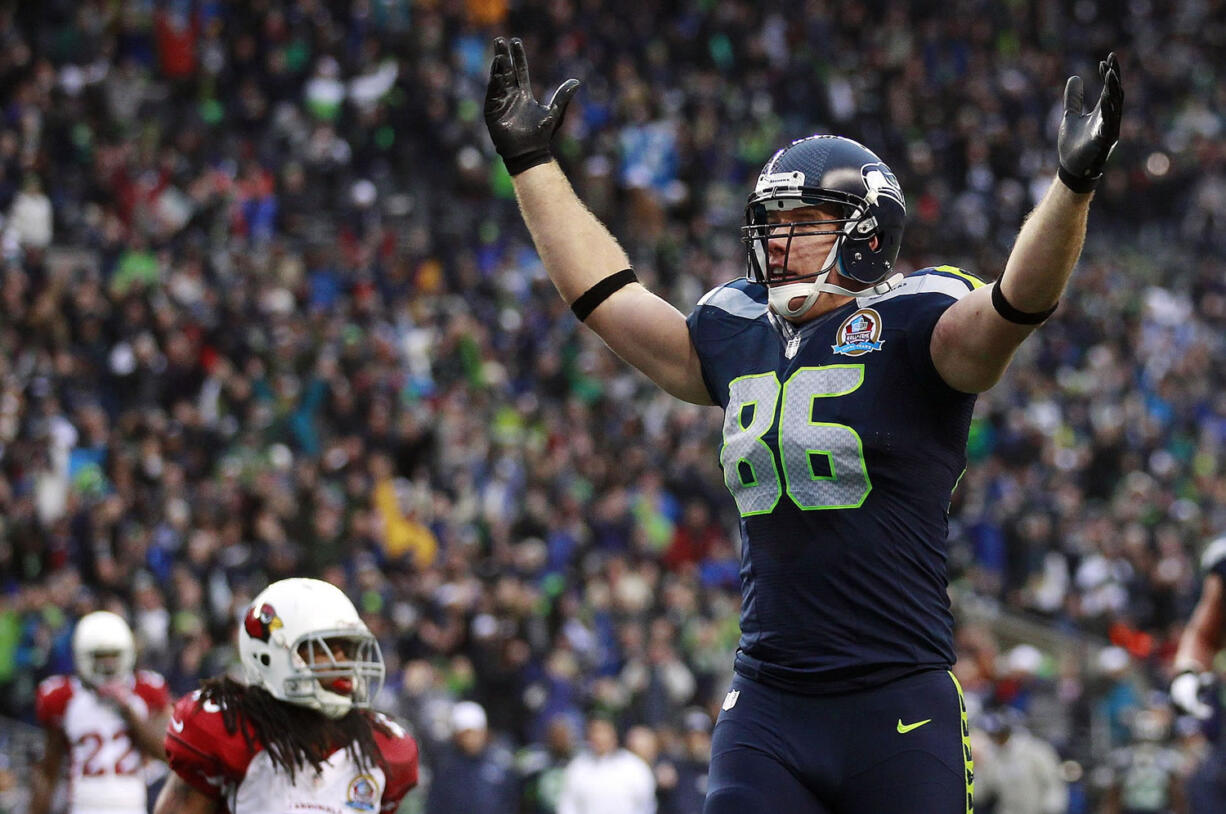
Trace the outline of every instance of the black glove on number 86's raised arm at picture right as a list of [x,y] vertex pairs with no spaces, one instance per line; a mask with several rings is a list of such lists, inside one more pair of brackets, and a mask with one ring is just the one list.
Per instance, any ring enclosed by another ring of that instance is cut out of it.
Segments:
[[1064,86],[1064,119],[1060,121],[1058,148],[1059,177],[1074,192],[1089,192],[1102,178],[1112,148],[1119,141],[1119,118],[1124,108],[1124,86],[1119,82],[1119,60],[1114,51],[1098,63],[1102,93],[1098,104],[1081,112],[1085,89],[1080,76],[1070,76]]

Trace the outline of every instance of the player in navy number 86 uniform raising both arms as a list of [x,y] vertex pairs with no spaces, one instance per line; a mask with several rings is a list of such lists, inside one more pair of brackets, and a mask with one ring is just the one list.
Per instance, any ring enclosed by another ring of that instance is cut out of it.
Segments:
[[1056,309],[1119,134],[1114,55],[1083,109],[1064,92],[1059,175],[996,284],[895,267],[889,167],[831,135],[763,168],[747,275],[687,318],[635,280],[549,152],[579,88],[536,101],[520,40],[495,42],[485,124],[544,267],[576,316],[669,394],[723,408],[741,512],[742,637],[711,745],[707,814],[971,810],[946,597],[946,511],[975,394]]

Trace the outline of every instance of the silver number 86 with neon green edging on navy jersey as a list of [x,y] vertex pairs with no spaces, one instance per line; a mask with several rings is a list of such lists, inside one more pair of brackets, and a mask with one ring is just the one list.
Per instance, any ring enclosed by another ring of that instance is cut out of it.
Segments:
[[[787,495],[799,509],[856,509],[873,484],[859,434],[813,420],[818,398],[837,398],[864,384],[864,365],[801,368],[780,384],[775,371],[728,385],[720,463],[742,517],[769,514]],[[776,425],[779,460],[764,440]],[[782,468],[782,474],[780,470]]]

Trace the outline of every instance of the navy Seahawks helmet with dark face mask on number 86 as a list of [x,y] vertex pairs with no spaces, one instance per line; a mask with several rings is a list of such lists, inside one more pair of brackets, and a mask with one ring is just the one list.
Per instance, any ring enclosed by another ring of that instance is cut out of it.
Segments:
[[[826,217],[815,221],[770,223],[769,215],[805,206],[821,206]],[[829,217],[834,215],[834,217]],[[902,188],[873,151],[842,136],[809,136],[776,152],[758,177],[745,206],[743,239],[749,248],[747,276],[771,284],[770,303],[783,316],[799,316],[823,291],[858,295],[872,289],[884,293],[901,275],[894,264],[902,243],[907,208]],[[787,254],[798,237],[836,234],[821,268],[792,273]],[[767,243],[786,240],[782,266],[769,262]],[[843,277],[863,283],[850,291],[826,282],[837,266]],[[781,283],[782,280],[787,283]],[[788,303],[804,297],[799,309]]]

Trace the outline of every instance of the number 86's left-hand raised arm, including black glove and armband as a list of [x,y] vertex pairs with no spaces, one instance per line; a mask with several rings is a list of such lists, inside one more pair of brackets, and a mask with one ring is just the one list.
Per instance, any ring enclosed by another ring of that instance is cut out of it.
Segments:
[[711,403],[685,318],[630,276],[618,242],[584,206],[549,153],[549,141],[579,88],[568,80],[548,104],[532,96],[524,44],[495,42],[485,124],[506,163],[524,221],[563,299],[609,348],[667,392]]

